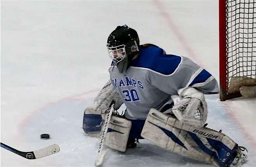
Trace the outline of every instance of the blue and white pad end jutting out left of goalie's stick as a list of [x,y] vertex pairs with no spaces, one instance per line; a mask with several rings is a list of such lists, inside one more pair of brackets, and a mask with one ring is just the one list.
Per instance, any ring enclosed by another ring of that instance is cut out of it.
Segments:
[[100,113],[96,113],[93,107],[87,107],[84,111],[83,129],[86,134],[99,137],[101,132],[102,118]]

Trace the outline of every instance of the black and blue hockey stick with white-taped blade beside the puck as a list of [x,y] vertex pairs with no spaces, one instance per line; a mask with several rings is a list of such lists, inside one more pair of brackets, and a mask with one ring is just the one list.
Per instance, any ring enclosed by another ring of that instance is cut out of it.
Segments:
[[12,151],[13,153],[16,153],[17,155],[27,158],[29,160],[42,158],[42,157],[52,155],[52,154],[59,152],[59,146],[57,144],[52,144],[52,145],[42,148],[40,150],[28,151],[28,152],[16,150],[16,149],[14,149],[10,146],[7,146],[6,144],[3,144],[3,143],[1,143],[1,147],[5,148],[6,150]]

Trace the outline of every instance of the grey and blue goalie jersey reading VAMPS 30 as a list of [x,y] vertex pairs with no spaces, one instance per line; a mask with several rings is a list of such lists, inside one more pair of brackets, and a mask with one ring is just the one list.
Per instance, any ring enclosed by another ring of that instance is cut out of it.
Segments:
[[209,72],[186,57],[165,54],[159,47],[141,48],[123,73],[112,65],[110,78],[127,107],[128,119],[145,120],[151,108],[160,109],[182,88],[193,87],[203,94],[219,92]]

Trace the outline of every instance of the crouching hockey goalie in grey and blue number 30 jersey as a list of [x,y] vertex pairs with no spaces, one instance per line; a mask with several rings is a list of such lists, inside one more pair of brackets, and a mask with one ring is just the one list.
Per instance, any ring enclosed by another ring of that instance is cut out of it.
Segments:
[[84,131],[99,136],[105,112],[124,103],[124,115],[113,114],[105,145],[118,151],[136,147],[138,139],[217,167],[239,167],[244,147],[208,129],[204,94],[219,92],[216,79],[183,56],[166,54],[153,44],[139,45],[137,32],[117,26],[109,35],[110,80],[85,109]]

